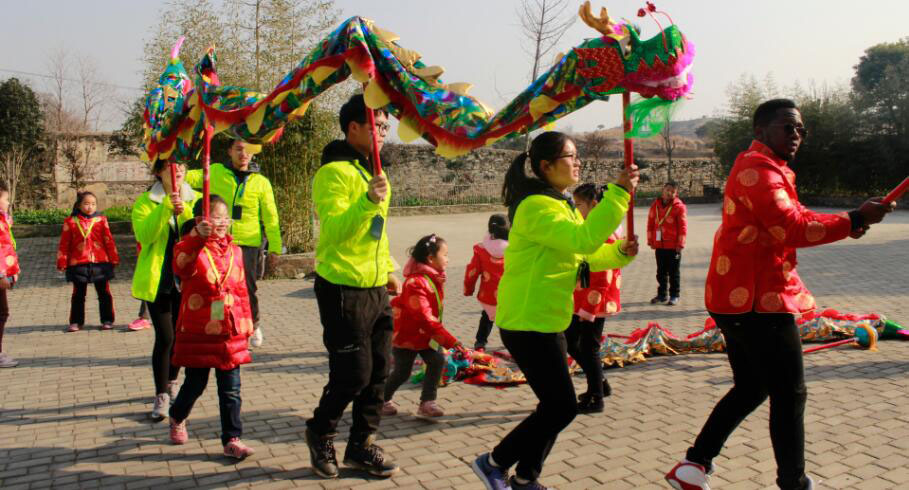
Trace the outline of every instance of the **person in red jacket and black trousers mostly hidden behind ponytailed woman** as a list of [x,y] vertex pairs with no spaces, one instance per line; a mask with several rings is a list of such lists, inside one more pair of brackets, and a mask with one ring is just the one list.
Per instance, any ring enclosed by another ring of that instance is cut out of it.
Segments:
[[[584,219],[603,198],[603,190],[595,184],[582,184],[574,190],[574,202]],[[615,243],[621,226],[606,240]],[[609,381],[603,374],[600,361],[600,344],[606,317],[615,315],[621,309],[619,288],[622,285],[622,270],[612,269],[590,273],[586,287],[579,283],[574,291],[574,315],[565,330],[568,353],[584,370],[587,377],[587,391],[578,395],[578,413],[602,412],[603,397],[612,394]]]

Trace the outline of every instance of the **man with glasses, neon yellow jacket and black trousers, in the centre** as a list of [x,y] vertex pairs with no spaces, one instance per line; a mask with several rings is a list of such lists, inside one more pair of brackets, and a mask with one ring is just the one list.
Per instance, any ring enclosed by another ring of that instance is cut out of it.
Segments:
[[344,464],[375,476],[398,471],[375,444],[391,358],[392,310],[389,295],[401,282],[388,248],[385,220],[391,188],[371,160],[373,136],[381,149],[388,114],[375,111],[375,135],[362,95],[340,111],[343,140],[322,151],[313,179],[319,218],[314,290],[328,350],[328,384],[306,421],[306,444],[313,471],[338,476],[334,438],[341,415],[353,402],[353,423]]

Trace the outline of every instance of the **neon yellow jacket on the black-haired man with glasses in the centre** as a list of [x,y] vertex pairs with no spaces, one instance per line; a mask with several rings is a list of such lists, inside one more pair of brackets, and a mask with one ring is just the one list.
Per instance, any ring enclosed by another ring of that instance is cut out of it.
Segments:
[[382,227],[378,240],[370,235],[374,216],[387,221],[391,186],[385,200],[375,204],[366,196],[370,178],[356,159],[326,163],[313,178],[312,196],[319,217],[316,272],[331,283],[384,286],[395,269],[387,227]]

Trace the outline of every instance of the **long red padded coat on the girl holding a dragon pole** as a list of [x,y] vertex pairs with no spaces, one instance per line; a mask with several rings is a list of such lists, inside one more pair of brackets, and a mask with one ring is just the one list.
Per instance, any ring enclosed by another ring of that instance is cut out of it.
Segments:
[[[251,362],[253,321],[240,247],[229,235],[205,240],[194,231],[174,246],[174,273],[182,281],[174,364],[229,370]],[[223,319],[212,315],[219,298]]]

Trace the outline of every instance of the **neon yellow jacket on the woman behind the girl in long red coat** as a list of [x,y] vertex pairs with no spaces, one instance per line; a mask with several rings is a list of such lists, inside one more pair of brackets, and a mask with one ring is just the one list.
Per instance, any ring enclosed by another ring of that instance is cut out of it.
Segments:
[[[193,205],[201,195],[188,185],[181,189],[183,213],[176,218],[176,232],[187,220],[193,219]],[[164,186],[155,183],[151,190],[142,193],[133,204],[133,234],[142,249],[133,273],[132,293],[136,299],[154,301],[161,283],[161,269],[167,248],[168,228],[174,223],[174,206],[164,193]],[[177,240],[179,241],[179,240]]]

